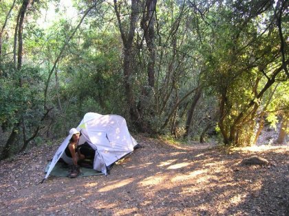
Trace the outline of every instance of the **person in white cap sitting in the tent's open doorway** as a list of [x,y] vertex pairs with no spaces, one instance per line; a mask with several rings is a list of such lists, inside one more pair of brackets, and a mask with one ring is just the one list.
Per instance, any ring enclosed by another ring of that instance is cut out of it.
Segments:
[[76,128],[72,128],[69,130],[69,135],[71,138],[69,139],[69,143],[61,158],[69,165],[69,177],[76,178],[81,172],[78,166],[78,160],[84,159],[85,156],[81,154],[78,148],[78,141],[81,133],[78,132]]

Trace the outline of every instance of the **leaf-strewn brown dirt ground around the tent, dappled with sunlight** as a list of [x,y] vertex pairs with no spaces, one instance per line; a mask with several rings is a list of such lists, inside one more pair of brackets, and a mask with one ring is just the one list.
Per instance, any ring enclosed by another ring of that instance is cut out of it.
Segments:
[[[142,134],[108,176],[44,176],[58,145],[0,162],[0,215],[289,215],[289,146],[225,150]],[[261,156],[265,166],[239,165]]]

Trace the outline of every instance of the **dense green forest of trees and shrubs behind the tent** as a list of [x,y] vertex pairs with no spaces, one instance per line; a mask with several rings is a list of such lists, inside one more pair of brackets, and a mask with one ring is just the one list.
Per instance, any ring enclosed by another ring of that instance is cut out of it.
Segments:
[[86,112],[226,146],[281,124],[286,142],[288,19],[285,0],[1,0],[1,158]]

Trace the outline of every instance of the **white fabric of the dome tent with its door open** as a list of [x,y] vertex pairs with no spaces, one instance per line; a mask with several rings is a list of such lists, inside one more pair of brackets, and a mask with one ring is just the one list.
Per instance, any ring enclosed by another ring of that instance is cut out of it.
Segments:
[[[88,112],[76,128],[81,131],[78,145],[87,142],[95,151],[94,169],[107,174],[107,167],[133,151],[138,143],[129,134],[127,123],[119,115],[100,115]],[[47,170],[45,180],[51,173],[65,148],[69,143],[70,136],[58,147],[51,165]]]

